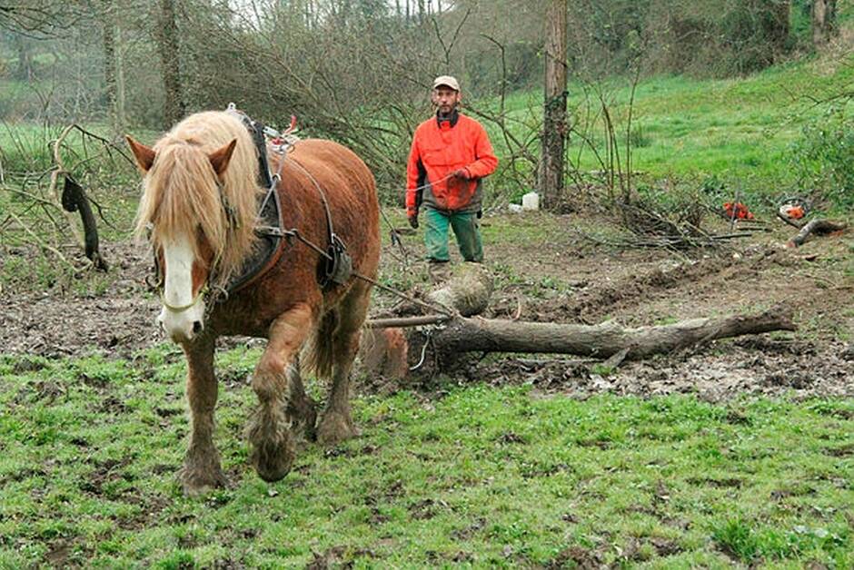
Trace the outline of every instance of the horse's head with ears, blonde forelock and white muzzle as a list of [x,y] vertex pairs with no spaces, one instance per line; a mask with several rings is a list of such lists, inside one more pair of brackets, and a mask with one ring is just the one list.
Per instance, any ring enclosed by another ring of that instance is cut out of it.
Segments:
[[237,140],[214,151],[192,139],[167,137],[154,148],[127,142],[144,173],[138,229],[149,233],[161,273],[157,320],[175,342],[189,342],[204,328],[208,281],[228,238],[223,185]]

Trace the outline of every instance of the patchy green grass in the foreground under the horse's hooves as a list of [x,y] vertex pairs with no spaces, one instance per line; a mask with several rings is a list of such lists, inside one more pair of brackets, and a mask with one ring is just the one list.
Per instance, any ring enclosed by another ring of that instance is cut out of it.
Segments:
[[217,359],[233,486],[198,499],[177,349],[0,357],[0,566],[854,565],[850,401],[362,396],[362,437],[268,485],[241,436],[257,357]]

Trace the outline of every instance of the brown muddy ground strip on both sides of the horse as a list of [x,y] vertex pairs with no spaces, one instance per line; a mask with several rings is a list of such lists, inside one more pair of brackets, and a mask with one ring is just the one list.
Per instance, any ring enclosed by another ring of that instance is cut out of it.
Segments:
[[[544,393],[578,398],[602,391],[640,396],[690,392],[711,400],[742,395],[854,396],[850,232],[816,238],[793,250],[783,247],[792,231],[780,224],[774,231],[716,251],[670,252],[603,246],[579,240],[577,232],[569,231],[596,227],[600,221],[525,215],[526,224],[553,226],[554,237],[537,243],[487,241],[487,263],[496,270],[498,285],[487,316],[586,324],[615,319],[642,326],[783,303],[794,311],[799,331],[720,340],[625,362],[607,376],[596,374],[595,362],[589,359],[492,355],[472,360],[451,381],[530,383]],[[508,223],[515,221],[484,220],[494,227]],[[413,256],[420,253],[417,236],[407,239],[407,248]],[[128,357],[163,342],[154,325],[159,302],[145,283],[151,270],[148,251],[144,245],[123,242],[107,243],[103,252],[112,268],[97,293],[75,292],[93,288],[68,284],[39,290],[23,282],[0,290],[0,353],[57,358],[99,352]],[[386,251],[383,271],[398,266]],[[411,270],[418,273],[420,268],[416,263]],[[381,293],[376,307],[390,302]],[[223,344],[243,341],[247,339]],[[368,381],[362,389],[377,387],[392,388]]]

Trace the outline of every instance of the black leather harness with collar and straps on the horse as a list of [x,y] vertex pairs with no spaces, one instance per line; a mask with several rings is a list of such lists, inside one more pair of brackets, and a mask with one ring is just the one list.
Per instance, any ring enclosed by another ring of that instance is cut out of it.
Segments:
[[[302,241],[313,251],[317,251],[321,256],[321,262],[317,269],[317,282],[323,290],[331,290],[337,285],[343,285],[353,275],[353,258],[347,251],[347,246],[343,240],[334,231],[332,211],[329,208],[329,201],[326,198],[326,192],[323,192],[323,187],[313,177],[311,172],[308,172],[302,164],[295,159],[291,159],[293,164],[299,168],[312,181],[314,188],[317,189],[323,203],[323,210],[326,213],[326,228],[329,240],[329,245],[326,249],[319,247],[312,241],[307,240],[296,228],[286,230],[284,228],[282,203],[279,199],[279,193],[276,192],[276,186],[280,181],[279,173],[271,174],[269,162],[267,160],[266,135],[274,137],[274,140],[279,143],[277,152],[281,152],[283,157],[287,151],[293,149],[293,144],[296,143],[296,137],[283,137],[282,133],[266,127],[263,123],[253,121],[245,113],[238,111],[234,103],[229,103],[227,113],[232,113],[240,119],[241,123],[249,131],[255,147],[255,153],[258,157],[258,184],[262,188],[266,188],[266,192],[261,199],[261,205],[258,208],[258,216],[255,225],[255,234],[261,238],[260,246],[257,247],[252,257],[243,264],[243,270],[233,277],[223,288],[218,290],[221,297],[227,299],[229,295],[243,290],[255,281],[261,279],[267,271],[273,269],[273,266],[282,258],[284,251],[284,241],[291,242],[292,238]],[[285,132],[285,135],[293,130],[295,119],[292,117],[291,127]],[[281,171],[281,168],[279,169]],[[220,183],[220,202],[223,206],[226,219],[229,224],[235,225],[237,217],[234,213],[232,205],[228,202],[224,192],[223,185]],[[214,262],[215,268],[215,262]],[[163,284],[164,273],[160,267],[160,260],[154,253],[154,272],[158,280],[158,287]],[[207,285],[205,285],[205,288]],[[199,295],[194,301],[188,305],[181,307],[169,307],[174,312],[183,312],[195,305],[197,300],[201,298]]]

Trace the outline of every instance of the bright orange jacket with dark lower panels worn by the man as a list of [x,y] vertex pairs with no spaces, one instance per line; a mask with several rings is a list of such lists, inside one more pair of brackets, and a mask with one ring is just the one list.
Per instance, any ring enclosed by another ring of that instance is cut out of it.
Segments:
[[[424,202],[444,211],[480,209],[480,187],[484,176],[492,174],[498,159],[486,131],[471,117],[454,113],[451,121],[438,117],[415,129],[406,165],[406,213],[417,213],[415,195],[424,188]],[[465,169],[468,180],[451,172]]]

